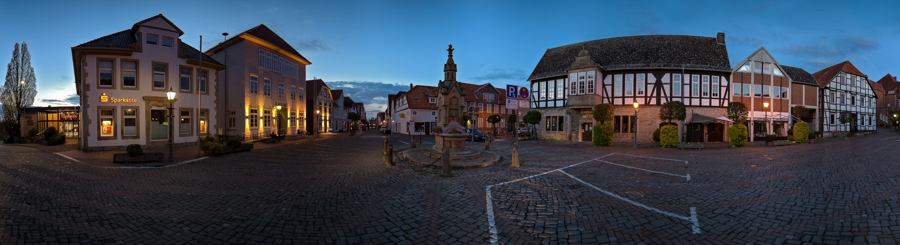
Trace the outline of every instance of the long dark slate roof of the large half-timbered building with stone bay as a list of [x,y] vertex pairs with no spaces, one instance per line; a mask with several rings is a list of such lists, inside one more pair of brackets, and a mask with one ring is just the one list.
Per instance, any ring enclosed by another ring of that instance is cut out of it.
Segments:
[[684,35],[646,35],[596,39],[548,48],[528,81],[565,74],[575,56],[587,49],[604,70],[631,68],[688,68],[731,71],[728,50],[716,38]]

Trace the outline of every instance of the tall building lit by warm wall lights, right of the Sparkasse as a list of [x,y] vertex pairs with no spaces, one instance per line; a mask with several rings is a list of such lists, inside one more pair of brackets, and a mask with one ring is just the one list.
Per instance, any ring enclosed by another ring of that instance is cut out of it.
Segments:
[[[306,66],[311,62],[260,24],[206,50],[229,69],[219,72],[219,119],[225,136],[238,140],[298,134],[304,127]],[[279,109],[280,107],[280,109]]]

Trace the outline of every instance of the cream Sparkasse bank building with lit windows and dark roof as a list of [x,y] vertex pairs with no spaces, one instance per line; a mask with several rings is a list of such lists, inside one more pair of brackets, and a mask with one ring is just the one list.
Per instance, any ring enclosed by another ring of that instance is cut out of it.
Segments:
[[[182,42],[183,34],[159,14],[72,48],[82,150],[166,147],[170,124],[178,145],[217,133],[218,71],[226,67]],[[174,121],[166,109],[170,90]]]

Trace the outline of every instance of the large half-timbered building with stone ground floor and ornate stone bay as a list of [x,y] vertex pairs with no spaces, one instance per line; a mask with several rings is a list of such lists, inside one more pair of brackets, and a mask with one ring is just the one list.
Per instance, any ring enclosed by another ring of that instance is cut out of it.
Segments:
[[[686,141],[723,141],[725,127],[692,119],[725,116],[731,66],[725,33],[715,38],[647,35],[583,41],[549,48],[537,63],[531,83],[531,108],[544,114],[537,127],[545,139],[590,141],[598,123],[592,109],[600,103],[615,106],[614,142],[653,141],[662,126],[660,106],[682,101],[688,118],[677,123]],[[633,103],[639,103],[635,117]],[[693,117],[703,115],[704,117]],[[551,125],[547,125],[547,124]],[[548,127],[549,126],[549,127]],[[549,129],[547,129],[549,128]]]

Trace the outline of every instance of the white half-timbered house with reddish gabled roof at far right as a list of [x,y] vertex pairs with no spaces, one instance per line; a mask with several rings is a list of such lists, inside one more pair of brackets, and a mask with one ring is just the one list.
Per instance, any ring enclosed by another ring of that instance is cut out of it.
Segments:
[[[878,96],[862,74],[850,61],[825,68],[813,74],[819,82],[820,125],[825,136],[849,131],[874,131]],[[850,111],[852,120],[842,124],[841,111]]]

